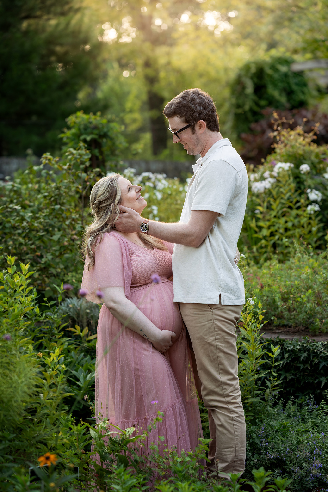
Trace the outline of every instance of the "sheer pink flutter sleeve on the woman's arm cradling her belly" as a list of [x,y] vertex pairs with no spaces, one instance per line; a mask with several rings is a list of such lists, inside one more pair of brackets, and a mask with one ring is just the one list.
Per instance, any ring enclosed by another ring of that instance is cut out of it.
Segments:
[[88,263],[87,256],[81,289],[87,291],[88,301],[99,303],[96,291],[105,287],[124,287],[126,297],[129,296],[132,269],[128,248],[117,235],[105,233],[94,248],[94,267],[90,271]]

